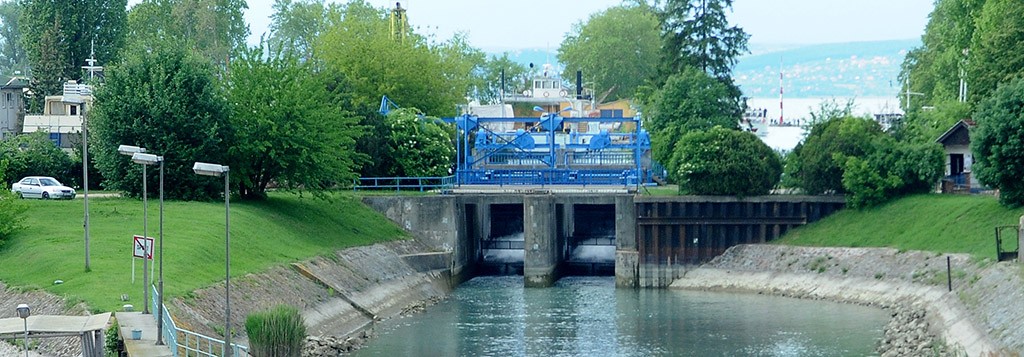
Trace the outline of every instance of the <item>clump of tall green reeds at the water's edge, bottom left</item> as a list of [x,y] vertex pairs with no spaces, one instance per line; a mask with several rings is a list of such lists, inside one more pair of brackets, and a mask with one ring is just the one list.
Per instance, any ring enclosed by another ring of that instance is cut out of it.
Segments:
[[299,310],[281,305],[246,317],[249,353],[256,357],[300,356],[306,340],[306,324]]

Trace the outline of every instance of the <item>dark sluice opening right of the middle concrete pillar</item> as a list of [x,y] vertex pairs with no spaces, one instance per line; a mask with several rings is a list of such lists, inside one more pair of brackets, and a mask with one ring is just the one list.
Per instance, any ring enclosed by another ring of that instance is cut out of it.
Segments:
[[571,207],[563,275],[615,275],[615,205]]

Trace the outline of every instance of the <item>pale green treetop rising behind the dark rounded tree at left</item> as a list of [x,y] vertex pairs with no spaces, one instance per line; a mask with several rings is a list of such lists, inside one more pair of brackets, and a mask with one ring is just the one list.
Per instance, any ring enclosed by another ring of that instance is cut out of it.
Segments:
[[248,8],[245,0],[142,0],[128,13],[128,29],[136,47],[172,42],[226,66],[246,48]]

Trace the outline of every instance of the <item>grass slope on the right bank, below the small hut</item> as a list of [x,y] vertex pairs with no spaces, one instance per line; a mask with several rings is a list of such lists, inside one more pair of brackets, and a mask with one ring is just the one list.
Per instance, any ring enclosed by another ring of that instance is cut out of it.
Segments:
[[[995,258],[995,226],[1017,225],[1024,210],[989,195],[920,194],[866,210],[847,209],[786,233],[777,243],[889,247]],[[1010,248],[1017,247],[1014,230]],[[1007,242],[1005,242],[1007,243]]]

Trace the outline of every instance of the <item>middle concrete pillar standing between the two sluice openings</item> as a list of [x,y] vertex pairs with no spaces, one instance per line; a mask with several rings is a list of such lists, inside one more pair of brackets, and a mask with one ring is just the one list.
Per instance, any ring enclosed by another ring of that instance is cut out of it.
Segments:
[[526,287],[547,287],[558,280],[561,263],[558,237],[558,220],[555,200],[551,195],[526,195],[523,210],[523,280]]

